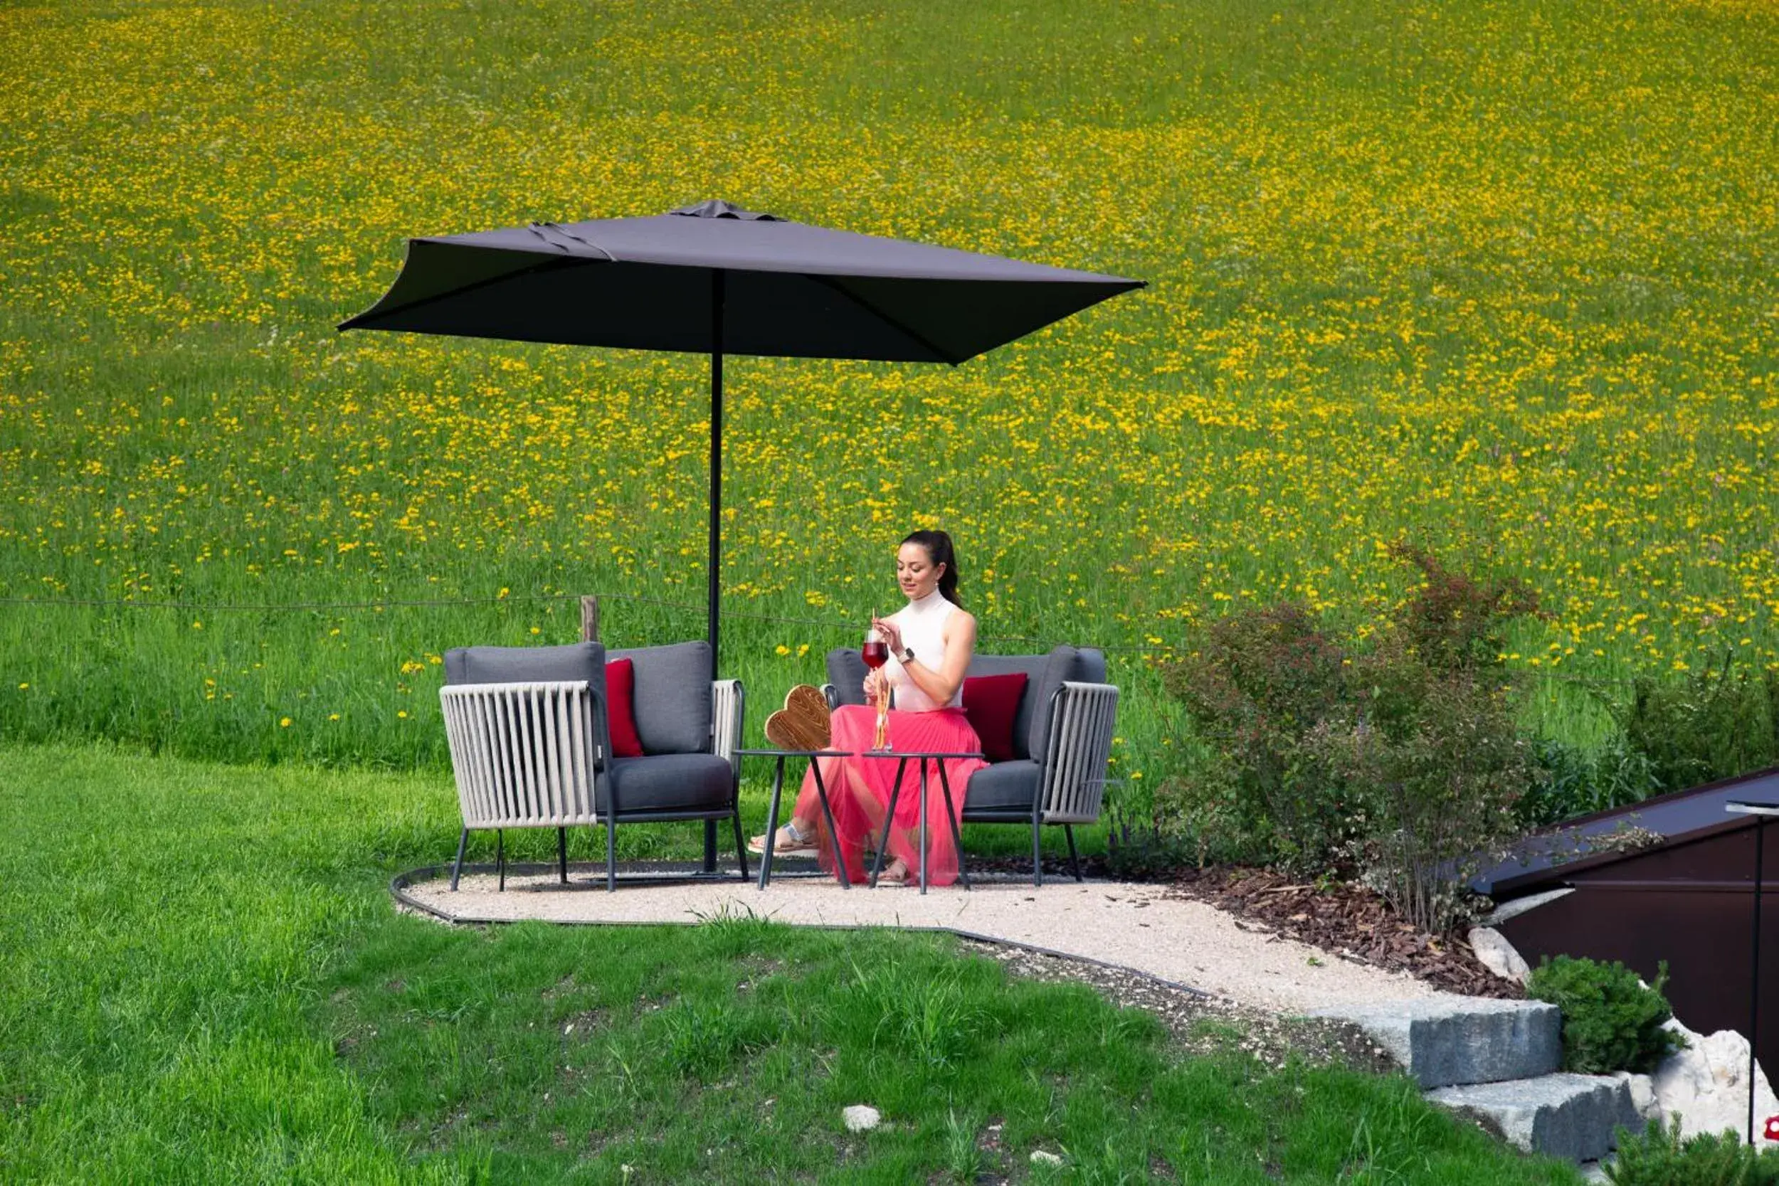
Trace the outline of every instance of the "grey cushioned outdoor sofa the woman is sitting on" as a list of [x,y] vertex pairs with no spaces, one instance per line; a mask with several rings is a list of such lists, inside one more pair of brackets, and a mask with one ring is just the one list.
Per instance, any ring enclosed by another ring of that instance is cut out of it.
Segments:
[[[865,704],[865,670],[857,647],[827,653],[829,683],[822,692],[829,708]],[[975,654],[964,677],[1012,672],[1023,672],[1026,681],[1012,722],[1010,756],[970,777],[964,823],[1030,825],[1034,885],[1044,884],[1039,829],[1062,825],[1069,839],[1069,868],[1075,880],[1082,880],[1075,825],[1099,818],[1117,688],[1105,681],[1103,651],[1071,645],[1053,647],[1048,654]],[[966,683],[966,706],[968,695]],[[895,741],[893,736],[890,740]]]

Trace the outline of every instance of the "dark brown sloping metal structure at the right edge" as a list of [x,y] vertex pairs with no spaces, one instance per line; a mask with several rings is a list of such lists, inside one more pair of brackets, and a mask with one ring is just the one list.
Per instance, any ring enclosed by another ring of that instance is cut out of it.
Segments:
[[[1779,829],[1729,805],[1774,800],[1779,766],[1582,816],[1532,837],[1471,887],[1498,905],[1571,891],[1500,925],[1530,964],[1585,955],[1622,960],[1653,980],[1667,962],[1667,998],[1681,1022],[1701,1033],[1745,1031],[1761,1005],[1756,990],[1770,998],[1779,985],[1779,912],[1754,930],[1756,887],[1772,893],[1779,869]],[[1654,837],[1615,846],[1610,837],[1628,829]],[[1754,1053],[1772,1078],[1779,1026],[1756,1033]]]

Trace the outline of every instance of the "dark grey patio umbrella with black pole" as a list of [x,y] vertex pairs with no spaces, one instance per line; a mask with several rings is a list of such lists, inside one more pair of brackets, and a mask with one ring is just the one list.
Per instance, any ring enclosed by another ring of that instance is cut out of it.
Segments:
[[639,219],[411,238],[390,292],[340,329],[710,354],[715,665],[724,354],[955,366],[1142,284],[706,201]]

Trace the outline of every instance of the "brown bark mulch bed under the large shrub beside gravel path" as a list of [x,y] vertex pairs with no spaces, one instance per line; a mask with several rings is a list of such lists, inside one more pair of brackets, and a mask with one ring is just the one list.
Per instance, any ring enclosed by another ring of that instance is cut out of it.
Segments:
[[1359,964],[1411,973],[1436,989],[1521,999],[1525,989],[1484,967],[1462,934],[1429,935],[1409,926],[1363,885],[1292,882],[1240,866],[1183,869],[1171,893],[1208,902],[1240,919]]

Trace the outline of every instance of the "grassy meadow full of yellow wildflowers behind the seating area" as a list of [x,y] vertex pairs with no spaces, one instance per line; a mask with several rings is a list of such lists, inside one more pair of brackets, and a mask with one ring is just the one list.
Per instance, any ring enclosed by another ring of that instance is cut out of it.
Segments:
[[0,7],[0,736],[439,763],[452,645],[701,635],[706,359],[333,325],[409,235],[706,197],[1149,281],[729,363],[751,731],[934,525],[987,647],[1115,647],[1133,775],[1147,656],[1363,637],[1400,537],[1541,594],[1567,740],[1779,661],[1770,4],[891,7]]

